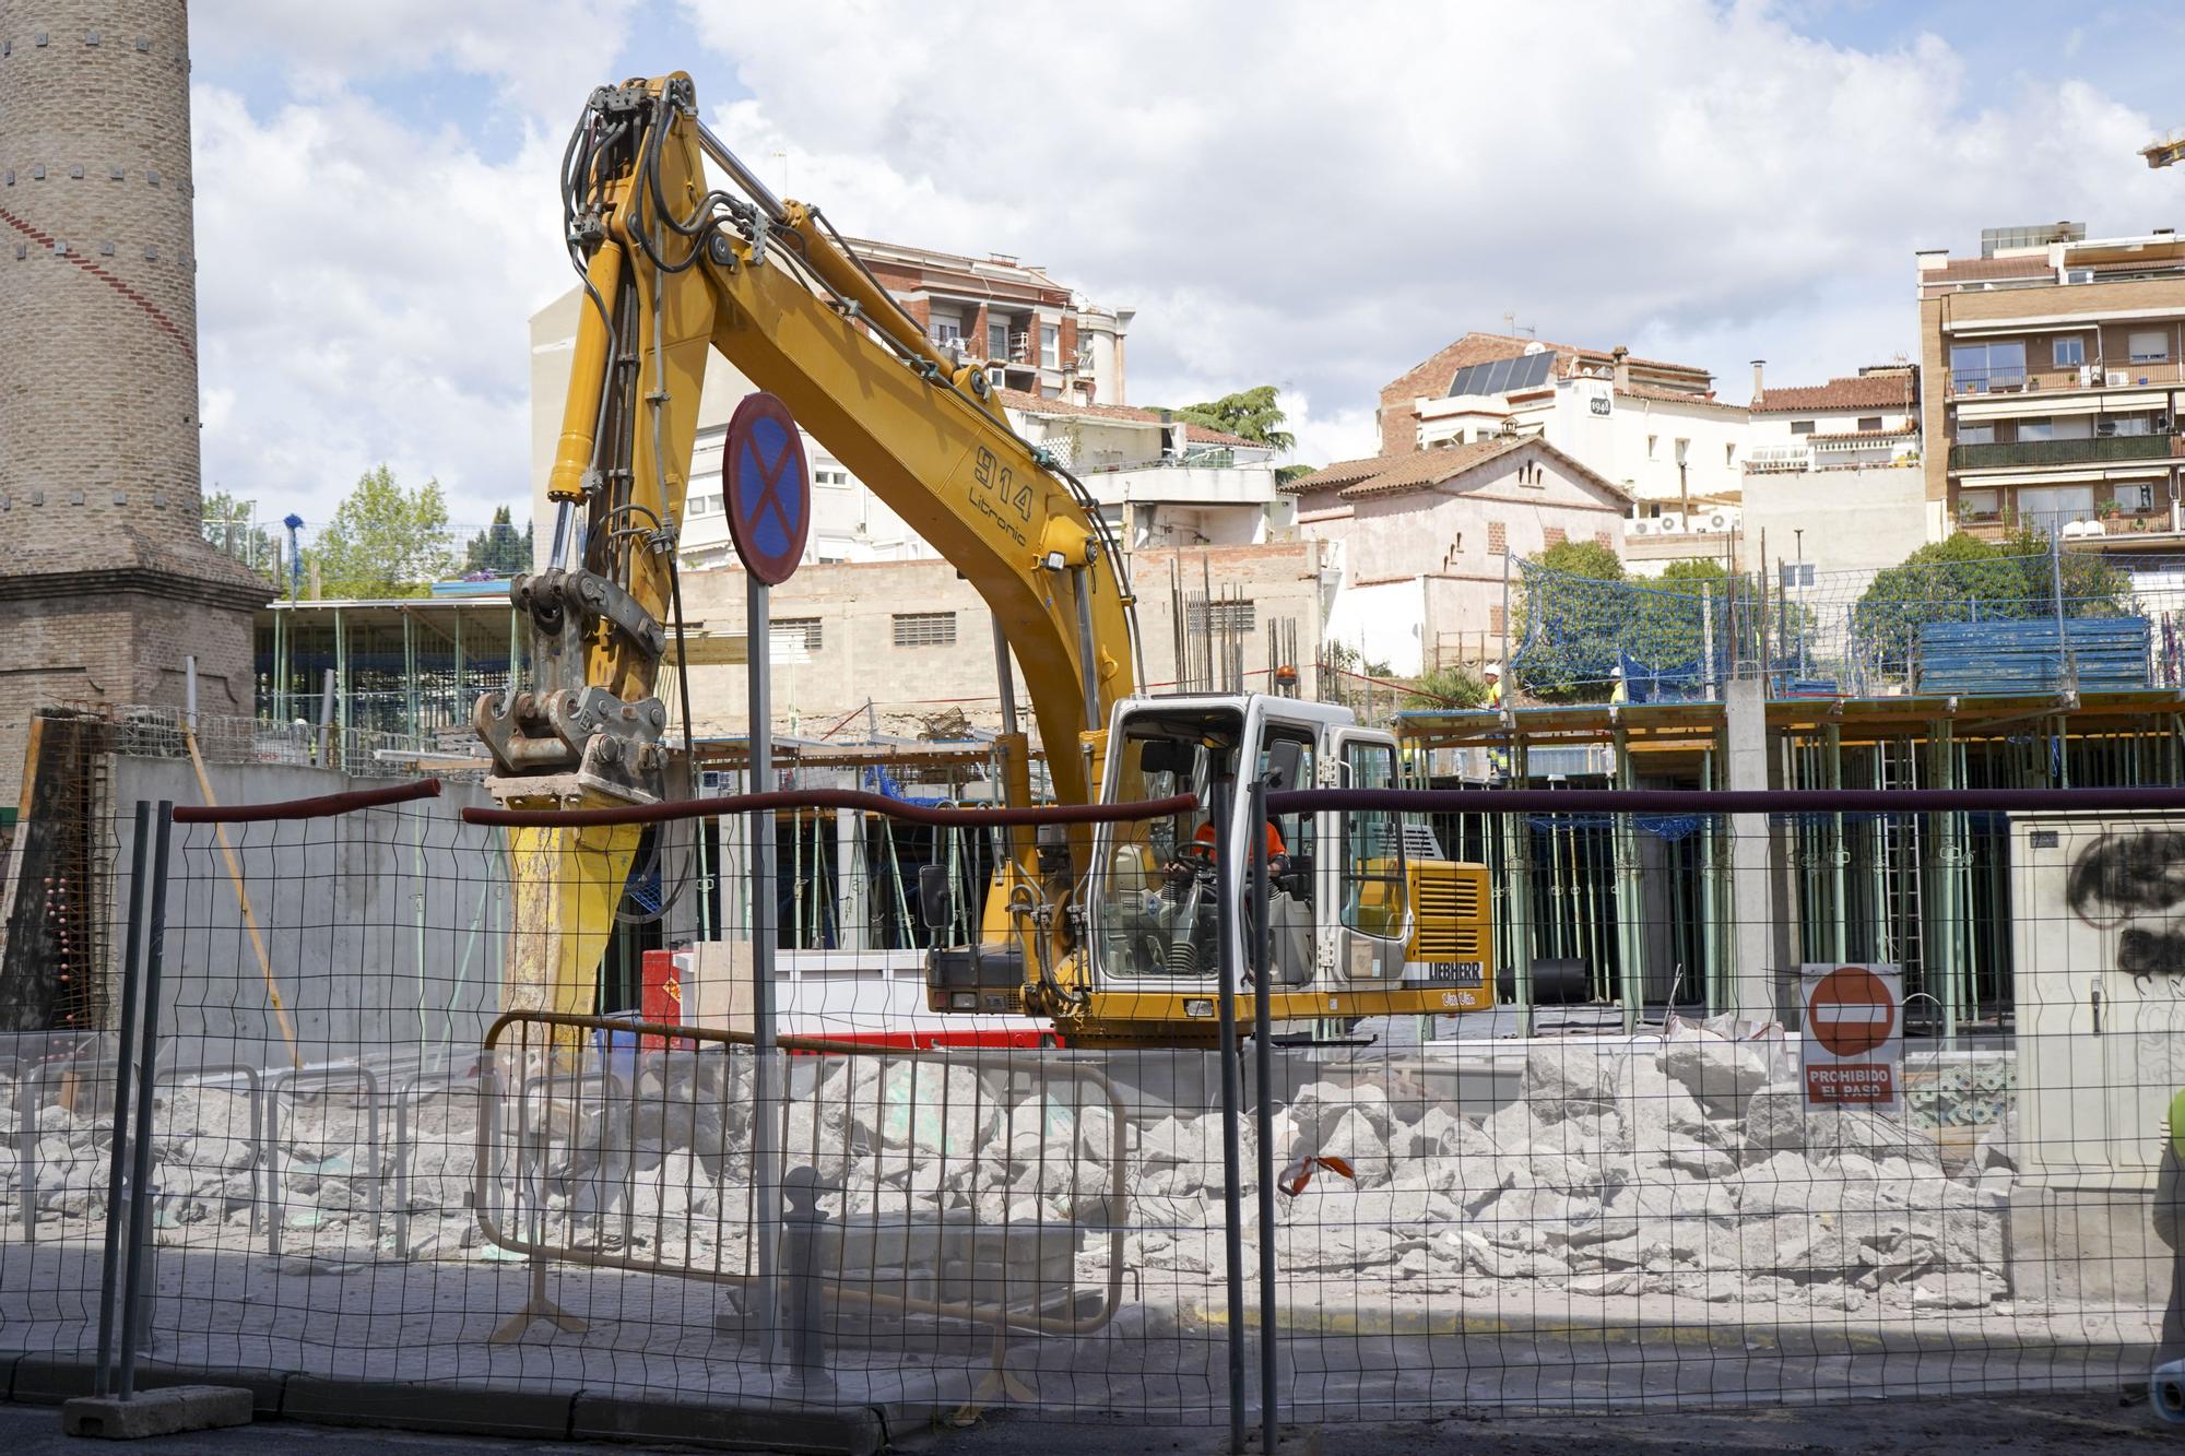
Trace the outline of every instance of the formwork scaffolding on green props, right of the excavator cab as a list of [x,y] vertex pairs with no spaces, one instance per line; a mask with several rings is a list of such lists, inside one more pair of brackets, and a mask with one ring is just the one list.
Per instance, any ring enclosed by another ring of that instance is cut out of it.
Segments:
[[[1724,704],[1412,711],[1398,732],[1409,783],[1484,791],[1479,813],[1442,813],[1433,829],[1444,853],[1492,870],[1505,1003],[1525,1017],[1591,1006],[1630,1028],[1728,1003],[1726,815],[1492,813],[1492,791],[1510,787],[1728,789]],[[2185,695],[1776,697],[1765,743],[1776,789],[2168,787],[2185,774]],[[1768,890],[1794,927],[1774,971],[1901,964],[1914,1034],[2010,1028],[2001,815],[1774,815],[1768,829]]]

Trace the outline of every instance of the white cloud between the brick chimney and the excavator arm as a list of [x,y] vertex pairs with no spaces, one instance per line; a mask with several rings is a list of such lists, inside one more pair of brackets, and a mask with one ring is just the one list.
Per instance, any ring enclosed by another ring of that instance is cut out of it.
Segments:
[[378,461],[437,474],[459,522],[522,501],[524,324],[568,280],[559,144],[487,164],[347,92],[192,105],[205,481],[312,522]]

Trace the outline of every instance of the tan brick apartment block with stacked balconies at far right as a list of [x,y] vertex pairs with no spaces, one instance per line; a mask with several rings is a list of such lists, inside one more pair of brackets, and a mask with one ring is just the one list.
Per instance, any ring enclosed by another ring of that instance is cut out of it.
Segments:
[[1993,227],[1977,258],[1916,254],[1916,278],[1940,520],[2091,542],[2178,533],[2185,240]]

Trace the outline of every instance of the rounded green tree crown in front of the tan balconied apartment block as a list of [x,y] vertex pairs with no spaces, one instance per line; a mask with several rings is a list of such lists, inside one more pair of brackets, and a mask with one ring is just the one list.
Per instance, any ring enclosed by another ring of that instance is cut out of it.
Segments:
[[1868,658],[1901,665],[1929,621],[2054,617],[2058,575],[2065,617],[2130,612],[2130,579],[2104,557],[2065,553],[2052,562],[2043,536],[1988,542],[1960,531],[1875,573],[1851,610],[1853,638]]

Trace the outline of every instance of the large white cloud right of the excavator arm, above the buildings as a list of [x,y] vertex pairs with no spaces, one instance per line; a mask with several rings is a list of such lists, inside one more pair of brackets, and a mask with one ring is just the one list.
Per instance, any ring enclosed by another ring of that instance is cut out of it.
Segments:
[[732,146],[789,151],[846,232],[1136,306],[1141,402],[1289,380],[1370,422],[1505,313],[1744,398],[1752,356],[1787,380],[1910,352],[1914,247],[2141,230],[2172,197],[2133,155],[2148,120],[2084,81],[1969,77],[1936,37],[1844,50],[1768,4],[684,11],[749,92],[714,114]]

